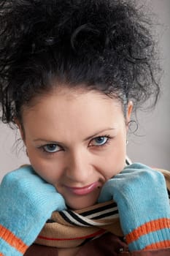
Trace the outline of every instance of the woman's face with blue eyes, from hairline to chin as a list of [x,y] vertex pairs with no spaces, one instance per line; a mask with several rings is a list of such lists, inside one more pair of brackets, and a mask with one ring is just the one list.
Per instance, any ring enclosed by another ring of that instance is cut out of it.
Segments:
[[23,109],[20,132],[31,165],[70,208],[95,204],[104,183],[125,166],[131,108],[125,120],[116,99],[64,88]]

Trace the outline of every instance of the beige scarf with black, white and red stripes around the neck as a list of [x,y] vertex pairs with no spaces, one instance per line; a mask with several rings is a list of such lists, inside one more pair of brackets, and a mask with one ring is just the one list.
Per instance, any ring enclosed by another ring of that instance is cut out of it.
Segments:
[[[170,173],[166,170],[160,171],[166,178],[169,192]],[[81,246],[107,232],[116,236],[123,236],[117,204],[113,200],[98,203],[82,210],[53,212],[52,217],[46,222],[45,227],[36,238],[35,244],[70,248]]]

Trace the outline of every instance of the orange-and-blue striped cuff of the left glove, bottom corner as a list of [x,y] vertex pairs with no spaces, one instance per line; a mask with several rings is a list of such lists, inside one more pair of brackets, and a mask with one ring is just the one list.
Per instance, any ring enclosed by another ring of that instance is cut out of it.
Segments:
[[0,225],[0,256],[22,256],[28,246],[6,227]]

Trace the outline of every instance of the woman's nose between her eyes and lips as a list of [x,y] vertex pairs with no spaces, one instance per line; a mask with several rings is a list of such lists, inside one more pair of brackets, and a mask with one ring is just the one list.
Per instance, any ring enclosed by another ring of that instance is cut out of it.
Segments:
[[76,184],[87,185],[93,173],[93,165],[90,162],[88,150],[74,151],[69,154],[69,161],[66,166],[66,176]]

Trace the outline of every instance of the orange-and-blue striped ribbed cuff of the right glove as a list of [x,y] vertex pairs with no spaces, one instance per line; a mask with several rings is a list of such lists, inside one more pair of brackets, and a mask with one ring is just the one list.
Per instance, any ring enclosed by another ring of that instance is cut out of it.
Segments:
[[130,251],[161,249],[170,246],[170,219],[155,219],[125,236]]

